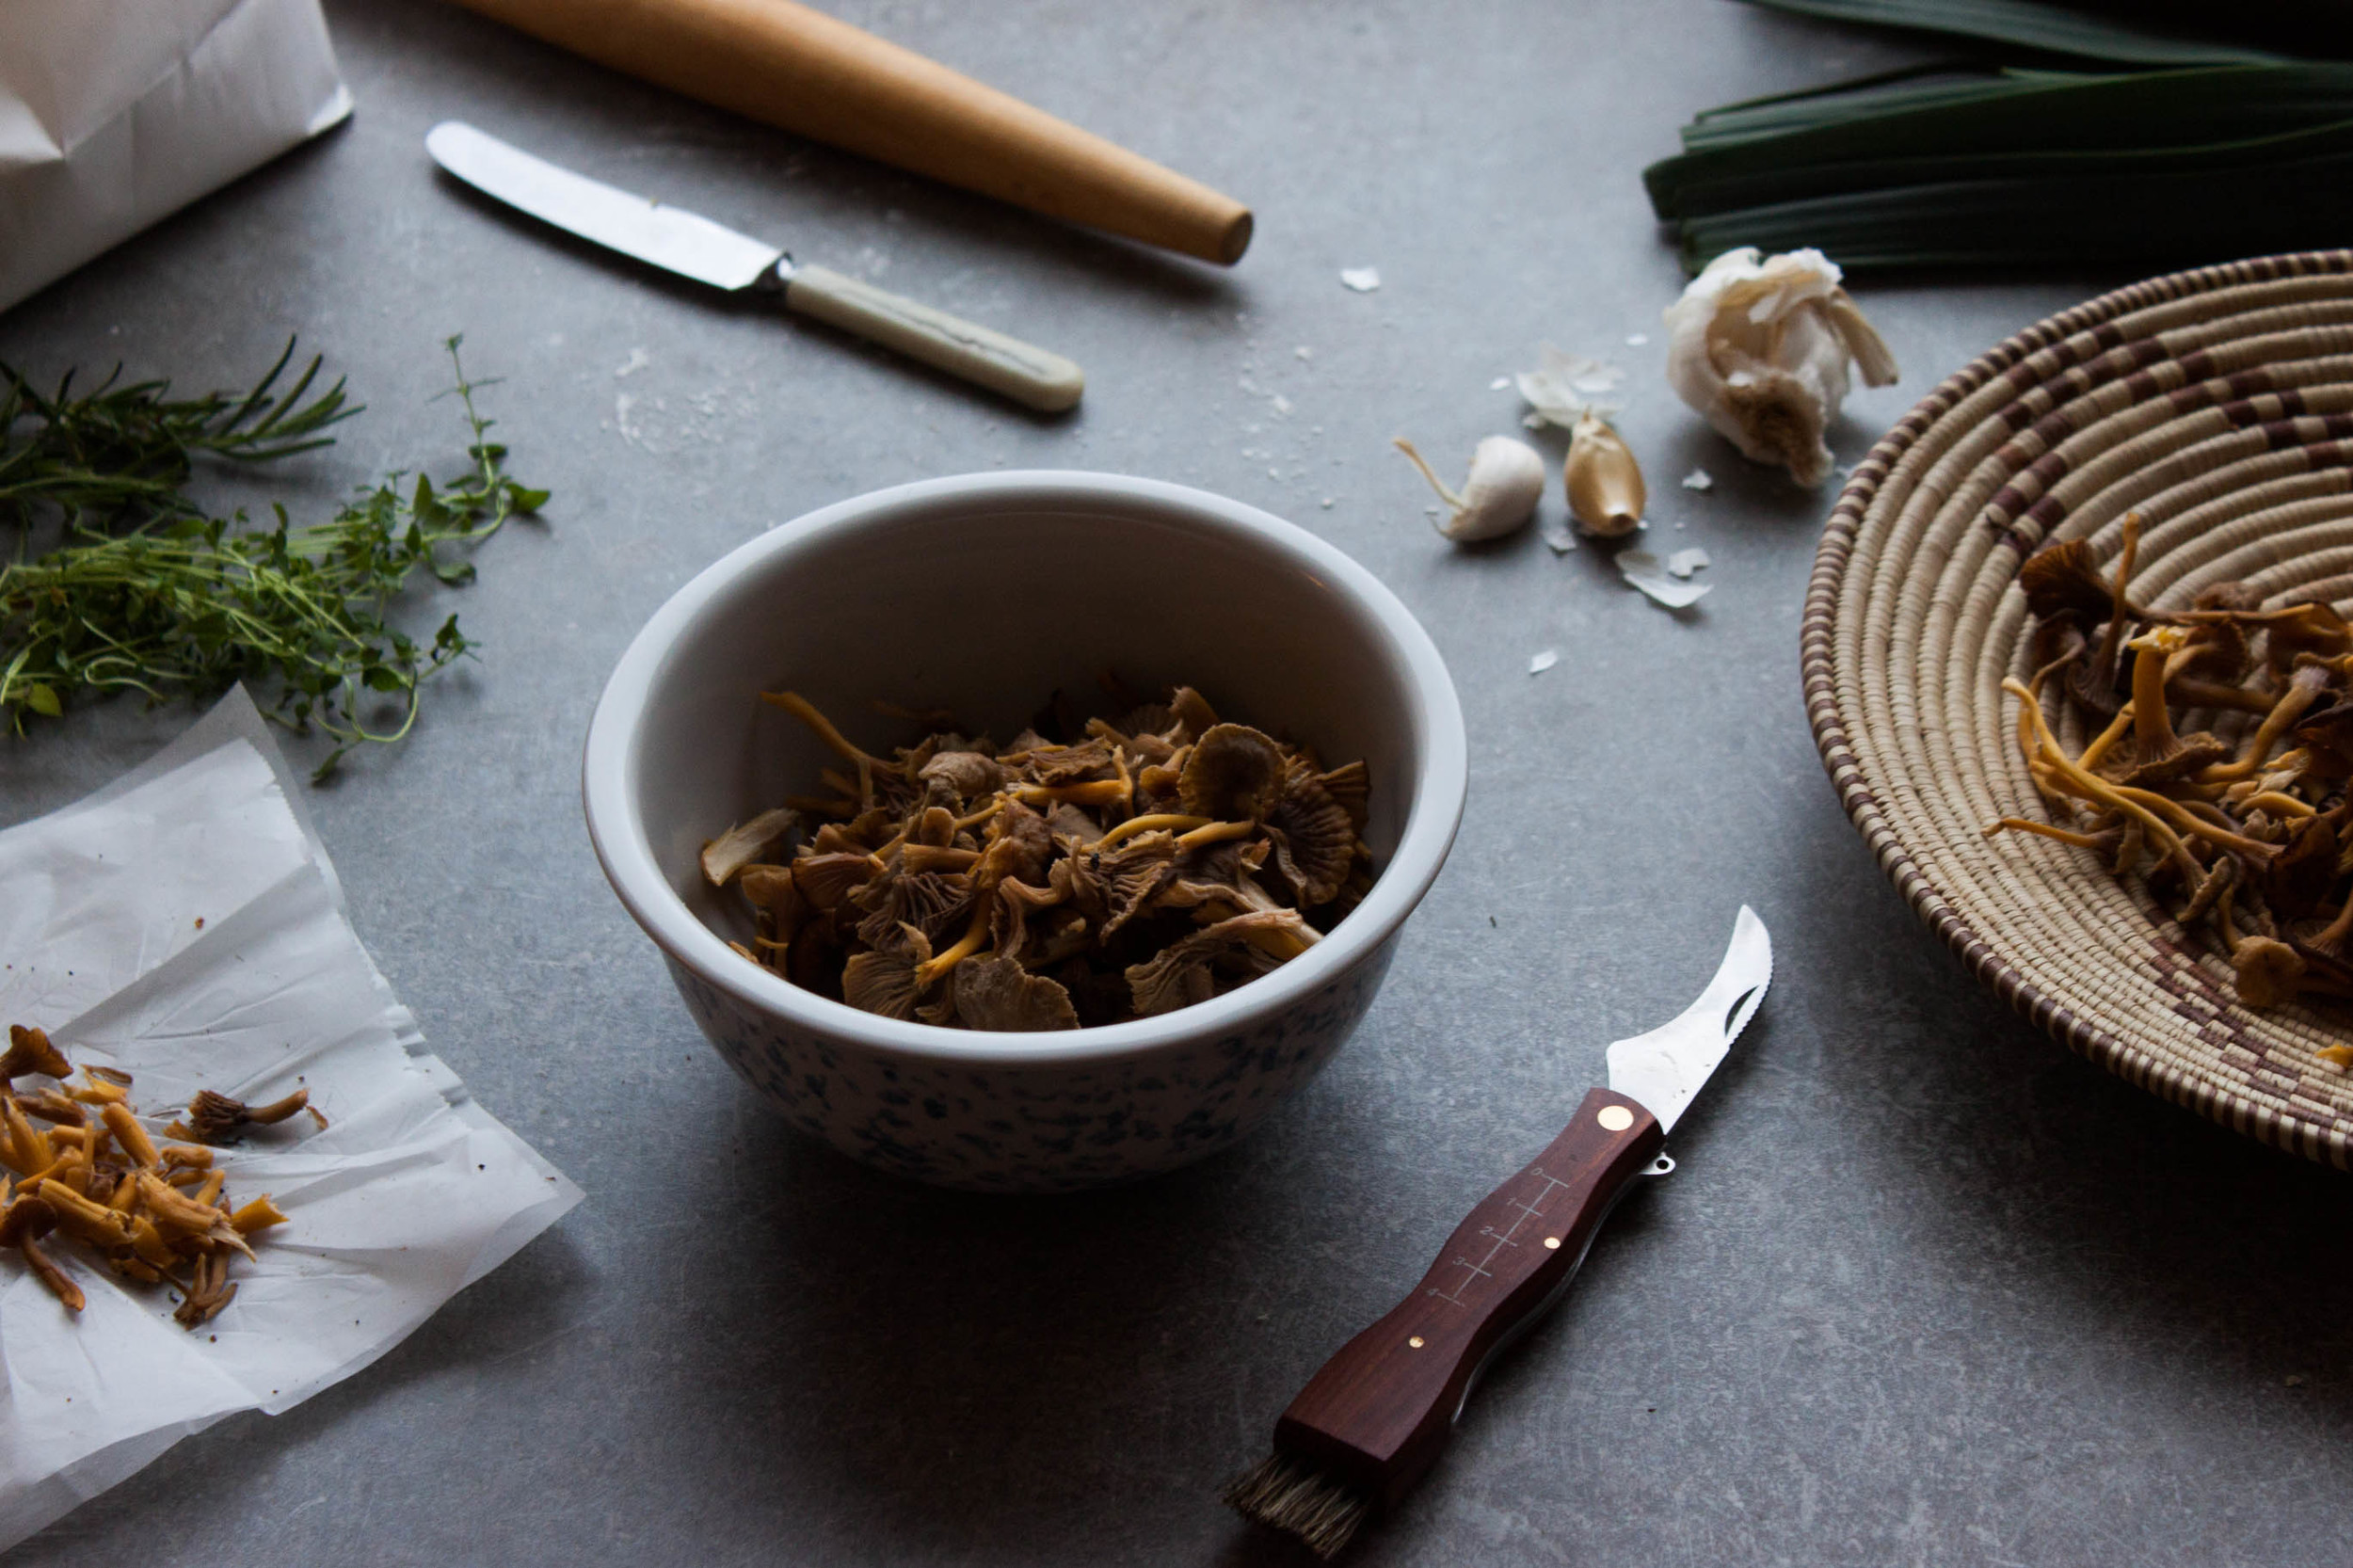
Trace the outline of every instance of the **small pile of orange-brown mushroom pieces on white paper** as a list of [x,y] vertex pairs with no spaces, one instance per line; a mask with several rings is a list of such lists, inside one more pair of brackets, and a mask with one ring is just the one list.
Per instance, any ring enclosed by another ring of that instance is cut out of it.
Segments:
[[[19,1078],[54,1083],[26,1090]],[[129,1107],[129,1074],[89,1067],[75,1083],[73,1067],[40,1029],[9,1026],[0,1083],[0,1250],[16,1250],[73,1311],[87,1297],[45,1248],[52,1234],[82,1243],[125,1278],[174,1285],[172,1316],[184,1328],[209,1323],[235,1300],[228,1255],[252,1260],[252,1236],[287,1220],[268,1194],[231,1208],[212,1149],[158,1147]],[[301,1090],[259,1109],[202,1090],[188,1104],[188,1121],[219,1140],[306,1107]],[[181,1123],[167,1130],[184,1132]]]

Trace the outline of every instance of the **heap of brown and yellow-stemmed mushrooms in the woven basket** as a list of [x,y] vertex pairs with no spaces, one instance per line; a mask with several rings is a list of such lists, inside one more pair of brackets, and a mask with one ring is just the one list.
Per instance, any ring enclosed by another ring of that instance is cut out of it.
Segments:
[[[2139,530],[2122,520],[2113,579],[2080,539],[2019,567],[2035,671],[2002,690],[2054,819],[1986,833],[2057,838],[2141,878],[2184,928],[2212,930],[2249,1008],[2353,1003],[2353,626],[2235,582],[2188,610],[2139,605]],[[2092,735],[2075,753],[2042,711],[2049,690]],[[2318,1055],[2353,1067],[2353,1045]]]

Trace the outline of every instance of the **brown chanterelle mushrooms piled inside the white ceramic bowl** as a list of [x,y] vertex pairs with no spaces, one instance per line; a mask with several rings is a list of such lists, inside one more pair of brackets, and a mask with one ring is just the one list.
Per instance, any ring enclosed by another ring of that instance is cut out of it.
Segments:
[[[793,984],[885,1017],[1035,1031],[1205,1001],[1322,939],[1365,897],[1367,772],[1221,723],[1200,692],[1085,718],[1056,695],[1007,746],[936,730],[878,756],[762,692],[842,760],[821,796],[704,850]],[[739,859],[758,838],[774,859]]]

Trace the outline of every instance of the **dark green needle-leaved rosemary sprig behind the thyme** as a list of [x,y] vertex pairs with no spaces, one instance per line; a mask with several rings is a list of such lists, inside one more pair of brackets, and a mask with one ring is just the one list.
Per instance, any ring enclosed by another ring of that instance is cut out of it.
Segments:
[[45,396],[0,365],[0,525],[136,525],[191,516],[198,509],[181,487],[200,452],[252,464],[332,445],[334,436],[322,431],[358,414],[360,405],[346,403],[341,379],[304,403],[318,381],[318,358],[273,396],[292,360],[294,339],[287,339],[278,363],[242,398],[176,400],[167,396],[169,381],[115,386],[120,365],[80,396],[71,370]]

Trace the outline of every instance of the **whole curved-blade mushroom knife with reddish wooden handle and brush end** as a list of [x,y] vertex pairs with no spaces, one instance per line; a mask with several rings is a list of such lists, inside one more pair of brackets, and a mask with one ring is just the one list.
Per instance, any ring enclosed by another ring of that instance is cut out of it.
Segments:
[[1247,1519],[1334,1556],[1395,1507],[1447,1446],[1487,1361],[1567,1290],[1633,1177],[1659,1149],[1772,984],[1772,937],[1746,904],[1715,979],[1673,1024],[1609,1048],[1609,1088],[1454,1227],[1405,1302],[1341,1347],[1275,1422],[1275,1453],[1226,1488]]

